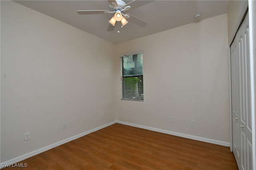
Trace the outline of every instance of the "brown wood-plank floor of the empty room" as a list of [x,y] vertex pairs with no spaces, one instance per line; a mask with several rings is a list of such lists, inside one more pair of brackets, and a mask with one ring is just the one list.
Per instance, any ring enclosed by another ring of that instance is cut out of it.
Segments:
[[19,163],[28,164],[23,170],[238,169],[229,147],[118,123]]

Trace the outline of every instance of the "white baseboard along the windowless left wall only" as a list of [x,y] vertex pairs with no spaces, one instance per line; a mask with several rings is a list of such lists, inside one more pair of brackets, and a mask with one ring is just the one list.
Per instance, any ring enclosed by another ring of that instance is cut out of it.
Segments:
[[22,161],[22,160],[25,160],[25,159],[27,159],[27,158],[30,158],[30,157],[32,157],[32,156],[35,156],[35,155],[40,154],[40,153],[42,153],[42,152],[45,152],[46,150],[50,150],[50,149],[52,149],[52,148],[58,147],[58,146],[60,146],[60,145],[62,145],[62,144],[64,144],[64,143],[68,143],[68,142],[70,142],[70,141],[73,141],[73,140],[75,140],[75,139],[78,139],[78,138],[80,138],[80,137],[83,137],[83,136],[88,135],[88,134],[90,134],[90,133],[92,133],[92,132],[95,132],[95,131],[98,131],[98,130],[103,129],[103,128],[105,128],[105,127],[108,127],[108,126],[110,126],[110,125],[113,125],[113,124],[115,124],[115,123],[116,123],[116,121],[107,123],[106,125],[102,125],[102,126],[100,126],[100,127],[96,127],[96,128],[94,128],[94,129],[91,129],[91,130],[86,131],[86,132],[84,132],[84,133],[80,133],[80,134],[75,135],[75,136],[73,136],[73,137],[70,137],[70,138],[68,138],[68,139],[64,139],[63,141],[59,141],[59,142],[57,142],[57,143],[54,143],[54,144],[52,144],[52,145],[48,145],[48,146],[43,147],[43,148],[38,149],[38,150],[34,150],[34,151],[29,152],[29,153],[27,153],[27,154],[24,154],[24,155],[22,155],[22,156],[18,156],[17,158],[13,158],[13,159],[8,160],[8,161],[6,161],[6,162],[1,162],[0,169],[4,168],[4,167],[7,166],[8,164],[15,164],[15,163],[17,163],[17,162],[20,162],[20,161]]

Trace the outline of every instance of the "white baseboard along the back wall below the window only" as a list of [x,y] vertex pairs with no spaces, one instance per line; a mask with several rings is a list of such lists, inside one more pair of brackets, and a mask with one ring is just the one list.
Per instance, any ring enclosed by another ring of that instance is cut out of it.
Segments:
[[193,139],[193,140],[196,140],[196,141],[212,143],[212,144],[221,145],[221,146],[224,146],[224,147],[230,147],[230,143],[223,142],[223,141],[217,141],[217,140],[214,140],[214,139],[208,139],[208,138],[204,138],[204,137],[197,137],[197,136],[193,136],[193,135],[187,135],[187,134],[184,134],[184,133],[166,131],[166,130],[163,130],[163,129],[157,129],[157,128],[154,128],[154,127],[148,127],[148,126],[143,126],[143,125],[136,125],[136,124],[133,124],[133,123],[127,123],[127,122],[123,122],[123,121],[116,121],[116,123],[132,126],[132,127],[138,127],[138,128],[142,128],[142,129],[147,129],[147,130],[150,130],[150,131],[165,133],[165,134],[169,134],[169,135],[174,135],[174,136],[178,136],[178,137]]

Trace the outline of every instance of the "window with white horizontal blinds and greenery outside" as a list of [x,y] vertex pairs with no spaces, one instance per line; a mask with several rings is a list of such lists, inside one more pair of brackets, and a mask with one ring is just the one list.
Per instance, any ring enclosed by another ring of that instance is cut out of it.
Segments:
[[122,100],[143,101],[143,53],[121,57]]

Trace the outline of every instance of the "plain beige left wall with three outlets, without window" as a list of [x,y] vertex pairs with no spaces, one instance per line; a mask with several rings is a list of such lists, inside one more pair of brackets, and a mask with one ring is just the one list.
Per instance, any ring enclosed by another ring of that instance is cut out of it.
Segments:
[[112,51],[112,43],[1,1],[1,162],[115,120]]

